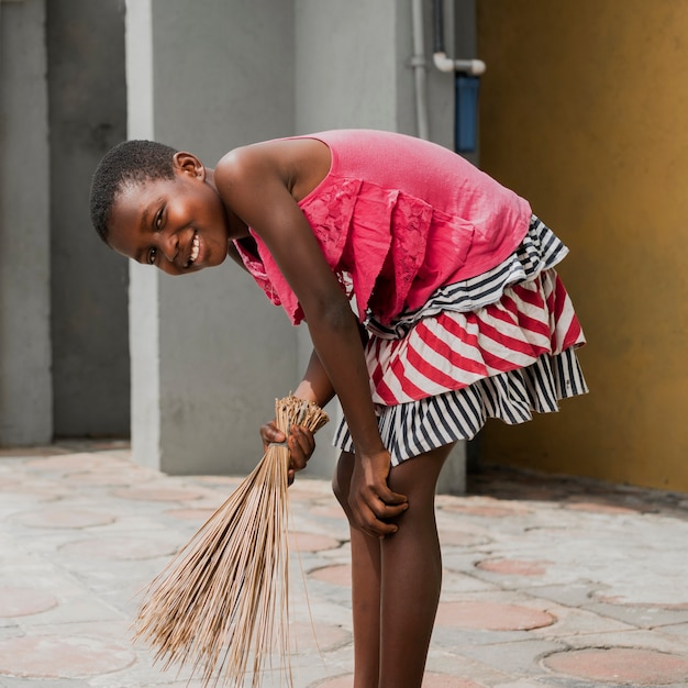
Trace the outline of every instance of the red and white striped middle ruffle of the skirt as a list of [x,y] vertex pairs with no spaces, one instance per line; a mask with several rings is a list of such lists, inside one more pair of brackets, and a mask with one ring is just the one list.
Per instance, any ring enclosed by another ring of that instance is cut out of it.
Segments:
[[371,337],[373,399],[392,406],[460,389],[584,343],[573,303],[550,268],[506,287],[496,303],[423,318],[401,340]]

